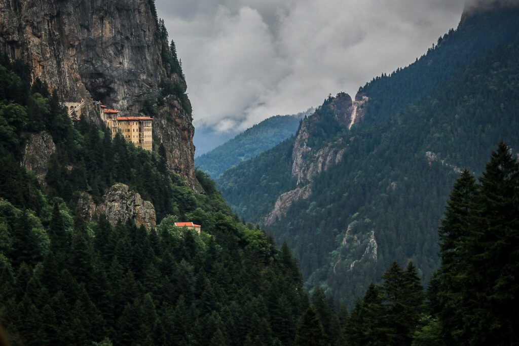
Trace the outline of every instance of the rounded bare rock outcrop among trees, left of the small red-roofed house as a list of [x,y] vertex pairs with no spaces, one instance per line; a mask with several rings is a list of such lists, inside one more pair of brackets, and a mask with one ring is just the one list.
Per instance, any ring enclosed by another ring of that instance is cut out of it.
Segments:
[[104,202],[97,207],[97,212],[105,214],[112,225],[119,219],[125,221],[130,218],[137,226],[155,228],[155,207],[151,202],[144,201],[139,193],[130,190],[128,185],[115,184],[104,194],[103,199]]

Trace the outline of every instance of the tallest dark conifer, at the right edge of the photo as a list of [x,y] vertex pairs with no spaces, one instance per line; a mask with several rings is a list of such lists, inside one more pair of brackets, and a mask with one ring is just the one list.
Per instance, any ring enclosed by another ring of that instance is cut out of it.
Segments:
[[519,163],[500,143],[480,177],[471,210],[462,335],[474,344],[517,340]]

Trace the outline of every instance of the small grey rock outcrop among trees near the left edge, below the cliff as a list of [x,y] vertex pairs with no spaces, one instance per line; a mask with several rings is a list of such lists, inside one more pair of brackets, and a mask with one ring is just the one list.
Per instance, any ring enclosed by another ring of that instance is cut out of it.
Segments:
[[42,185],[45,185],[47,162],[55,151],[56,145],[52,141],[52,136],[46,131],[32,133],[25,145],[22,166],[28,171],[33,171]]

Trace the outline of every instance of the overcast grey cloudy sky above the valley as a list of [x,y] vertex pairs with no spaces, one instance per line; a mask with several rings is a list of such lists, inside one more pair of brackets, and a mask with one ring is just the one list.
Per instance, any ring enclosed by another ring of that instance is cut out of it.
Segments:
[[156,0],[195,127],[244,130],[352,97],[456,27],[465,0]]

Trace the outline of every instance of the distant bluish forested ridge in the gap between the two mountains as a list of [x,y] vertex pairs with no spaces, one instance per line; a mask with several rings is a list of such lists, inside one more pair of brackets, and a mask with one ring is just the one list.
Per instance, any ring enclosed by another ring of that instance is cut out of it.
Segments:
[[195,165],[217,178],[229,167],[253,158],[294,135],[299,121],[312,111],[309,109],[295,115],[276,115],[265,119],[209,153],[197,157]]

